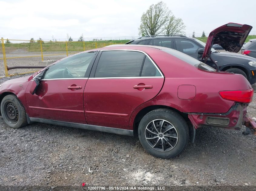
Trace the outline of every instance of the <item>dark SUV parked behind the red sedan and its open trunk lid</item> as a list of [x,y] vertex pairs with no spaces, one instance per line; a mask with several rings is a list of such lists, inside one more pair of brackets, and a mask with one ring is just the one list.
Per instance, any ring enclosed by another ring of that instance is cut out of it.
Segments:
[[[182,35],[146,36],[131,40],[126,44],[164,46],[176,49],[198,60],[202,59],[205,48],[205,43],[202,41]],[[256,82],[255,58],[237,53],[218,52],[214,49],[211,49],[211,58],[218,64],[220,71],[241,74],[248,79],[251,84]],[[204,60],[202,61],[204,62]],[[206,64],[215,69],[217,68],[211,59],[208,59]]]

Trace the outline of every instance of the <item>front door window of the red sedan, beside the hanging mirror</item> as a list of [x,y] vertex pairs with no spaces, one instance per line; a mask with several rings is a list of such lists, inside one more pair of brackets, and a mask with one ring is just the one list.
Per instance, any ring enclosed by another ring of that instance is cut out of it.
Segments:
[[45,73],[44,79],[84,78],[85,72],[95,52],[68,56],[52,65]]

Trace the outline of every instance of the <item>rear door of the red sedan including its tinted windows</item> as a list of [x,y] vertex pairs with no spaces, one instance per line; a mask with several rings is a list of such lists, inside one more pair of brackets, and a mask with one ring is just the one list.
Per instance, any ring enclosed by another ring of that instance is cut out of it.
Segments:
[[87,123],[128,129],[132,112],[155,97],[163,82],[154,61],[141,51],[100,51],[84,92]]

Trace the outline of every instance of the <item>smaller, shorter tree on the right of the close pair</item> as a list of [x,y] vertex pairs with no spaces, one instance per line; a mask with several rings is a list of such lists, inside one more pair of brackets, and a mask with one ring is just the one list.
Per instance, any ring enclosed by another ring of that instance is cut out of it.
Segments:
[[165,34],[184,34],[186,26],[181,18],[171,15],[169,21],[165,24]]

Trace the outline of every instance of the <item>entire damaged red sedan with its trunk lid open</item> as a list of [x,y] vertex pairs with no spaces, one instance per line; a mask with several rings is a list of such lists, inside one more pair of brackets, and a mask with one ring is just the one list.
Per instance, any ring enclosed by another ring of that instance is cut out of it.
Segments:
[[[211,59],[216,42],[239,50],[250,27],[227,24],[214,30],[203,57]],[[6,81],[0,94],[2,117],[12,128],[42,122],[138,135],[150,154],[172,158],[199,127],[240,129],[249,119],[253,89],[244,76],[215,71],[173,49],[117,45]]]

